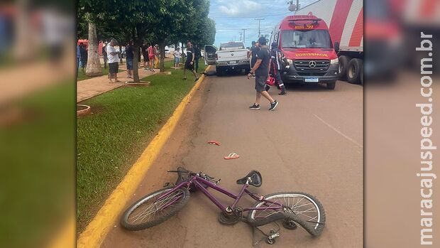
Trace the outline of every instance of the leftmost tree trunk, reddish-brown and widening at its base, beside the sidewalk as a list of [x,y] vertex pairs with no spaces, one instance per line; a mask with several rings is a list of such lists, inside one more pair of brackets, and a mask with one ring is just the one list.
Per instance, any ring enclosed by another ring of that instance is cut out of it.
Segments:
[[97,27],[89,22],[89,50],[87,51],[86,75],[96,77],[102,75],[101,61],[98,54],[99,41],[97,38]]

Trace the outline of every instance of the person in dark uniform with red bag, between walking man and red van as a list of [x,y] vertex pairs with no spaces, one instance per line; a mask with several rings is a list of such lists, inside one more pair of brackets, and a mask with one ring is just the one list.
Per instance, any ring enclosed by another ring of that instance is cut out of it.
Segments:
[[[278,95],[287,95],[286,87],[281,79],[281,70],[284,68],[284,65],[290,66],[289,62],[287,61],[284,53],[280,49],[277,48],[278,43],[274,42],[272,43],[272,50],[270,50],[270,77],[275,78],[275,85],[277,85],[278,89],[281,90],[281,92]],[[269,91],[270,85],[266,85],[265,90]]]

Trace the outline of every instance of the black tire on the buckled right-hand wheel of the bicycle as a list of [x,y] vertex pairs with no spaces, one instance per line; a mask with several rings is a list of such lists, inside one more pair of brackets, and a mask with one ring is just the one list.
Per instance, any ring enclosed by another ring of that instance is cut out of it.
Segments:
[[[315,198],[313,195],[310,195],[307,193],[302,193],[302,192],[272,193],[272,194],[265,195],[264,198],[271,199],[277,195],[303,195],[303,196],[305,196],[306,198],[308,198],[308,200],[310,200],[312,203],[314,203],[314,206],[317,207],[317,210],[319,210],[319,212],[318,212],[319,223],[317,223],[316,225],[311,225],[310,222],[307,222],[306,220],[303,220],[301,217],[299,217],[297,214],[290,213],[290,212],[275,212],[275,213],[269,215],[268,217],[265,217],[260,220],[256,220],[253,217],[253,212],[256,212],[257,210],[251,210],[248,212],[248,217],[247,217],[248,223],[250,225],[255,226],[255,227],[259,227],[261,225],[266,225],[270,222],[275,222],[277,220],[290,219],[290,220],[296,222],[298,225],[300,225],[304,230],[309,232],[309,234],[311,234],[314,237],[317,237],[321,234],[322,230],[324,230],[326,215],[325,215],[324,207],[319,202],[319,200],[317,200],[317,198]],[[260,203],[263,203],[263,202],[257,201],[253,205],[253,207],[258,207],[258,205],[260,205]]]

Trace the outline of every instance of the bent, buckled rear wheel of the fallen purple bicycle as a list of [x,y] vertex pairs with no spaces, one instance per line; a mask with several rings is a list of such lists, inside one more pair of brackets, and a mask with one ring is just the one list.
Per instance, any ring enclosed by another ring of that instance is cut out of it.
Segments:
[[[319,236],[326,222],[324,207],[314,196],[302,192],[280,192],[264,196],[265,200],[280,203],[285,209],[280,210],[251,210],[248,212],[248,222],[260,226],[277,220],[292,220],[303,227],[313,236]],[[274,203],[256,202],[253,207],[270,207]]]

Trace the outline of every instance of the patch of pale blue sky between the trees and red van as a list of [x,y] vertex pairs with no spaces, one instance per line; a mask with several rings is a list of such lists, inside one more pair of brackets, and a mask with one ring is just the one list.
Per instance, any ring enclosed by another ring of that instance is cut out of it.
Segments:
[[[300,0],[300,6],[317,0]],[[246,28],[246,47],[258,40],[258,21],[261,21],[261,34],[272,32],[282,18],[293,14],[288,9],[287,0],[211,0],[209,17],[216,21],[216,40],[214,45],[229,41],[240,41],[242,28]]]

